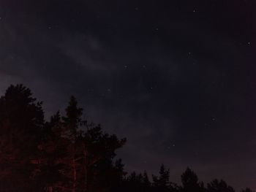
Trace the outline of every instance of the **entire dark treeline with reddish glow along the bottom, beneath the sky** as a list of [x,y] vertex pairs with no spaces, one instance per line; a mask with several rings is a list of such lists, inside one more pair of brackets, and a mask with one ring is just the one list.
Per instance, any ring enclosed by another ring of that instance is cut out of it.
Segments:
[[0,191],[234,191],[223,180],[204,185],[189,168],[181,175],[181,185],[170,182],[164,165],[152,177],[127,174],[116,158],[126,139],[82,117],[83,109],[71,96],[64,115],[56,112],[46,121],[42,102],[30,89],[10,85],[0,98]]

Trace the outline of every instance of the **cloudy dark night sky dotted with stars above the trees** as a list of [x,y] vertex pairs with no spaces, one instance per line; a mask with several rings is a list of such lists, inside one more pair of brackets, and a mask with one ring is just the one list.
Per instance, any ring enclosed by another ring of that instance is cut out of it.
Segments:
[[0,93],[70,95],[127,137],[125,169],[256,189],[255,0],[1,0]]

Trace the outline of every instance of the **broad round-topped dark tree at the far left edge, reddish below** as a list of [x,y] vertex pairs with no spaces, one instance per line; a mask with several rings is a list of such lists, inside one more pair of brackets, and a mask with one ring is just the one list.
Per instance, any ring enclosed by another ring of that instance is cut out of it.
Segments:
[[42,102],[29,88],[10,85],[0,98],[1,190],[32,190],[43,126]]

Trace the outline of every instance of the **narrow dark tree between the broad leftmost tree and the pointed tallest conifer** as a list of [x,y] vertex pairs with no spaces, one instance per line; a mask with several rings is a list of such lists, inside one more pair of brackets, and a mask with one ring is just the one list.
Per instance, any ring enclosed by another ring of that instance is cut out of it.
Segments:
[[36,178],[45,191],[64,191],[66,189],[68,179],[61,173],[61,169],[64,169],[62,160],[69,153],[68,145],[69,140],[62,137],[61,116],[57,112],[50,118],[50,122],[45,123],[42,141],[39,144],[40,164]]

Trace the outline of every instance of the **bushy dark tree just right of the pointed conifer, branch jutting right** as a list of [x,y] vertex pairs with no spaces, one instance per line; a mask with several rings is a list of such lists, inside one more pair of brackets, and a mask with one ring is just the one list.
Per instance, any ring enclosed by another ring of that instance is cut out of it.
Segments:
[[109,188],[109,185],[116,185],[111,177],[122,176],[121,160],[116,164],[113,158],[115,151],[122,147],[126,139],[118,139],[116,135],[109,135],[102,132],[100,126],[86,124],[86,131],[82,134],[83,146],[83,169],[85,186],[88,191],[95,188]]

